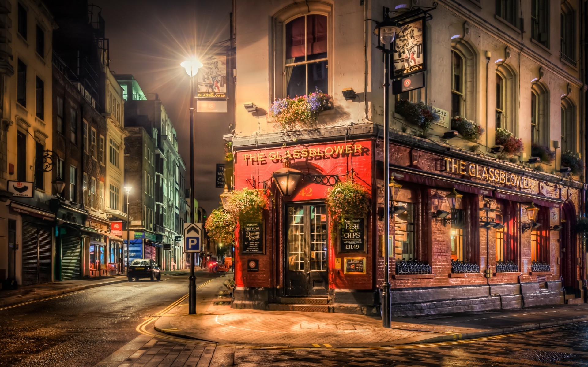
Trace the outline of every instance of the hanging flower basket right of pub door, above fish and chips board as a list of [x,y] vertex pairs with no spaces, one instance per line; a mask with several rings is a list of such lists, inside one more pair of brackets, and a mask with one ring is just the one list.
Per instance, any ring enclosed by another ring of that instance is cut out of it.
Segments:
[[350,177],[345,181],[339,181],[330,188],[325,201],[329,208],[330,230],[333,238],[338,235],[346,220],[364,218],[369,213],[368,190],[360,184],[354,183]]

